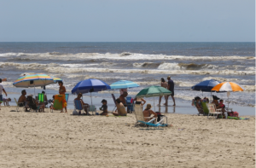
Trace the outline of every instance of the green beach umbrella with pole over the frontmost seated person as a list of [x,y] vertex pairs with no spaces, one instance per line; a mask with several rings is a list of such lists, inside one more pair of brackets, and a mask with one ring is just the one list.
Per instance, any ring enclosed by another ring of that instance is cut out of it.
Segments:
[[[161,86],[150,86],[141,90],[136,97],[143,98],[143,97],[155,97],[155,96],[168,96],[171,95],[172,91],[166,90]],[[155,108],[154,108],[155,111]]]

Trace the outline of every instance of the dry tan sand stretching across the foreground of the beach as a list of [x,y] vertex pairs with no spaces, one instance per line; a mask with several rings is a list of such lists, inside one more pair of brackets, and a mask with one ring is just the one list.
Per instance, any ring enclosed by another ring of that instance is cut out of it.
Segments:
[[[47,109],[49,111],[49,109]],[[255,117],[168,113],[172,127],[135,127],[135,116],[0,111],[0,167],[254,167]]]

